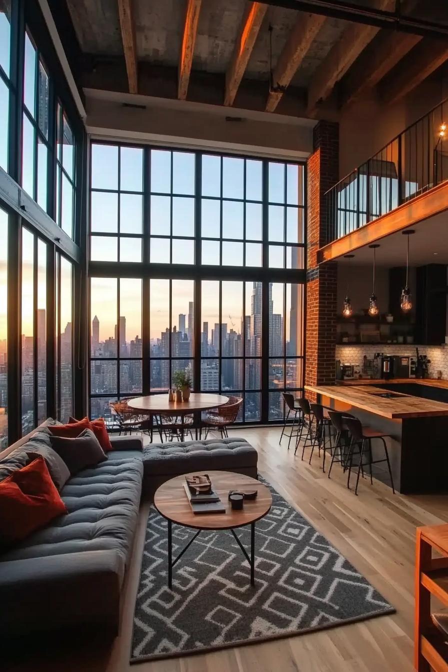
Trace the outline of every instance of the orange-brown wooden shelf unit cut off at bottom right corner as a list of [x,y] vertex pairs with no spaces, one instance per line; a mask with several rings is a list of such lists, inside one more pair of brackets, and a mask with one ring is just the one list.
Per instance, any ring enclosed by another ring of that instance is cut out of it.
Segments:
[[[433,548],[442,557],[433,558]],[[417,528],[414,624],[415,669],[448,672],[447,620],[436,627],[431,595],[448,607],[448,525]]]

